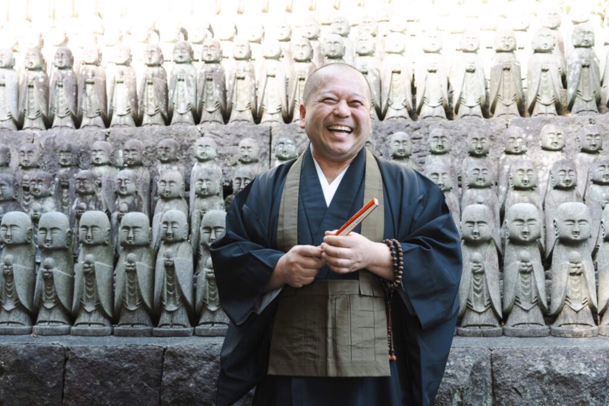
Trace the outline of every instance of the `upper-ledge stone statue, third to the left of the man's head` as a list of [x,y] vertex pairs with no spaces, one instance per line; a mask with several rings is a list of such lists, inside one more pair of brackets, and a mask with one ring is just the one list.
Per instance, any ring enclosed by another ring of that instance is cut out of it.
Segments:
[[246,40],[234,41],[233,59],[227,83],[228,124],[253,124],[257,106],[256,74]]

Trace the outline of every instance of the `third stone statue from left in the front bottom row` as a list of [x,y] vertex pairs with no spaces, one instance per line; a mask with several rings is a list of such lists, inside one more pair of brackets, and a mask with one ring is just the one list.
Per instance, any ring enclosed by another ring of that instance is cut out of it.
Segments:
[[71,335],[110,335],[113,318],[114,255],[110,244],[110,221],[102,211],[80,217],[80,252],[74,266],[76,316]]

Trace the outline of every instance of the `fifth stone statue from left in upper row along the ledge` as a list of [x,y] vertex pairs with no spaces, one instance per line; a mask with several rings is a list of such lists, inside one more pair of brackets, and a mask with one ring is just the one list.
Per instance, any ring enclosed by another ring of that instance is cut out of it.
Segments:
[[138,117],[138,83],[131,66],[131,49],[119,45],[115,49],[114,69],[108,77],[108,119],[110,127],[135,127]]

